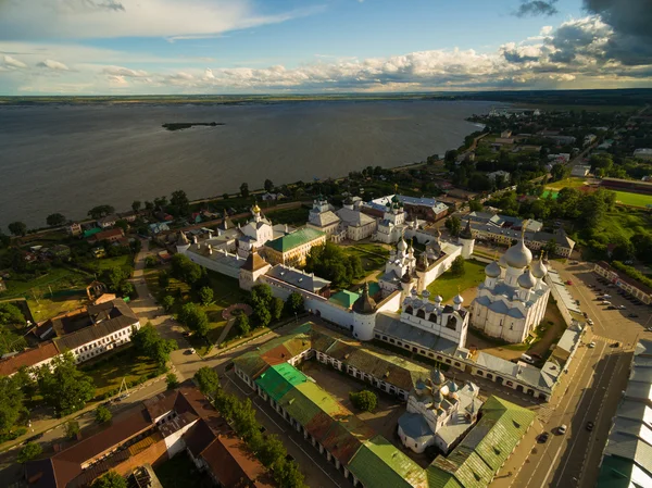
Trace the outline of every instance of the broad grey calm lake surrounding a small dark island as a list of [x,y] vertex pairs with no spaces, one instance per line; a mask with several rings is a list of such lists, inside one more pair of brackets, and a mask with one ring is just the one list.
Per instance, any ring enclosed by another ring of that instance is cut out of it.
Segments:
[[[127,210],[184,189],[192,198],[367,165],[391,167],[457,147],[490,102],[374,101],[250,105],[0,108],[0,226],[29,227],[98,204]],[[168,132],[165,122],[224,122]]]

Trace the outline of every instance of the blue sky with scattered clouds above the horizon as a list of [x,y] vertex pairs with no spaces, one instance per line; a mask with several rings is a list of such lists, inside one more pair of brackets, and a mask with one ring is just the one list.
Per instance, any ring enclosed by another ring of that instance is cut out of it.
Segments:
[[0,95],[652,87],[652,0],[0,0]]

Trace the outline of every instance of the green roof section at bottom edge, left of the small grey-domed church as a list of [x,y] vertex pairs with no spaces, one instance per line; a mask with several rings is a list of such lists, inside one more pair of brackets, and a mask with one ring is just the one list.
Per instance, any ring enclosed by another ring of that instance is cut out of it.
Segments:
[[366,441],[349,463],[364,486],[392,488],[427,486],[426,472],[383,436]]

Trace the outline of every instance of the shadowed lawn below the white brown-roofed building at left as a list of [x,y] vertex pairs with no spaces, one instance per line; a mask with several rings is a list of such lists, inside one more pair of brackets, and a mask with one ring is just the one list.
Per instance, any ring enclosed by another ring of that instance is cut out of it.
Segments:
[[158,367],[156,363],[137,355],[134,347],[127,345],[83,363],[79,370],[92,377],[96,398],[101,399],[109,391],[120,389],[123,378],[127,383],[142,383],[145,376],[155,375]]

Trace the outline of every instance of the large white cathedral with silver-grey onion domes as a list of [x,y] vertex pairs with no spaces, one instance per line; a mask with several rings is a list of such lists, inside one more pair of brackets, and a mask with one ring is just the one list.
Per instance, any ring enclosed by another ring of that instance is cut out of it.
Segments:
[[499,261],[489,263],[485,274],[469,308],[471,325],[507,342],[525,341],[543,320],[550,296],[542,255],[532,262],[521,238]]

